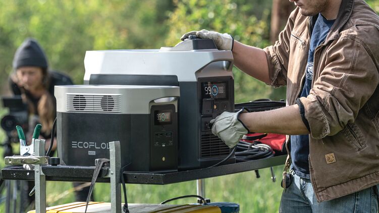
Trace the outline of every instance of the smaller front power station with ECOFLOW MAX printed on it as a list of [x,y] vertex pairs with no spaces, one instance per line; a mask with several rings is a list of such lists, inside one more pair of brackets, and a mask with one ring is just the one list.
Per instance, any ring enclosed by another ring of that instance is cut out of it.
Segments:
[[179,87],[56,86],[62,165],[94,166],[120,141],[124,171],[177,171]]

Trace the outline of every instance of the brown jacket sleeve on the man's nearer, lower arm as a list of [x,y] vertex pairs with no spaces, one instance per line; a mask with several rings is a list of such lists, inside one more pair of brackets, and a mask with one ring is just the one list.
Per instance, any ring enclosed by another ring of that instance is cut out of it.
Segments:
[[327,50],[326,58],[310,94],[300,97],[315,139],[335,135],[353,123],[379,82],[375,58],[358,39],[338,39]]

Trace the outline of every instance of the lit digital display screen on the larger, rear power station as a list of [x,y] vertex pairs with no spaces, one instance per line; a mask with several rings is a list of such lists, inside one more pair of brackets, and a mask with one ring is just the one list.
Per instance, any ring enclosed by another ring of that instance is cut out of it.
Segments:
[[201,89],[201,98],[227,98],[228,88],[226,82],[203,82]]

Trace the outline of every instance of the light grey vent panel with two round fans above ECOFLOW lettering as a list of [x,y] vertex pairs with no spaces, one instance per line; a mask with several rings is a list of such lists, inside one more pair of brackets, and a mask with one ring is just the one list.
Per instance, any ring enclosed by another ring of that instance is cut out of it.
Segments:
[[121,95],[67,94],[67,111],[121,113]]

